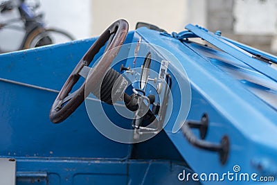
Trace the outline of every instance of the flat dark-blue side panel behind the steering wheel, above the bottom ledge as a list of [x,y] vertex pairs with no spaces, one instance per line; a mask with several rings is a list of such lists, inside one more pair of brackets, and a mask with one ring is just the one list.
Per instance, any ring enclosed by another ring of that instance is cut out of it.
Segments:
[[[50,46],[49,49],[46,47],[35,51],[4,54],[0,64],[1,78],[58,90],[94,40],[82,41],[80,42],[82,44],[75,42]],[[36,53],[35,60],[33,52]],[[3,89],[1,127],[3,130],[10,131],[1,134],[1,155],[127,157],[128,146],[114,143],[102,137],[97,130],[91,130],[93,125],[87,124],[90,121],[84,105],[80,106],[76,114],[64,124],[53,125],[48,118],[48,109],[55,100],[57,92],[24,87],[10,82],[0,83]],[[22,130],[24,132],[21,132]],[[98,150],[94,150],[96,146]],[[114,152],[112,154],[103,152],[106,148],[113,148]]]

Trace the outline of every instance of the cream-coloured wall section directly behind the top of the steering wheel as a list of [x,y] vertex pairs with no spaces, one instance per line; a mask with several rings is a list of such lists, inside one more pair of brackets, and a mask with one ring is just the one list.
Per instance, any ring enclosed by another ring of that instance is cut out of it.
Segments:
[[92,34],[99,35],[117,19],[126,19],[129,29],[136,22],[145,21],[168,30],[178,32],[186,24],[186,1],[162,0],[92,0]]

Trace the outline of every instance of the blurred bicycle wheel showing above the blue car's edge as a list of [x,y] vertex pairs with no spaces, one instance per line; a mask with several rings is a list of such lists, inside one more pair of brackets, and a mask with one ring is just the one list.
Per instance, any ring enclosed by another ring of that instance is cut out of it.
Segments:
[[45,46],[48,44],[60,44],[72,41],[73,39],[74,37],[69,33],[66,33],[64,30],[58,30],[55,28],[37,28],[26,39],[24,49]]

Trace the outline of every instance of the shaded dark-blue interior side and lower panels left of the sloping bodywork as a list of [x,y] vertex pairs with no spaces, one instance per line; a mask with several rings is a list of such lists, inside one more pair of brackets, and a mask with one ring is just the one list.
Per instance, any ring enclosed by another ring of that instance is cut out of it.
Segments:
[[[126,42],[133,34],[129,33]],[[137,184],[142,179],[144,184],[150,184],[148,178],[153,182],[141,172],[157,168],[148,164],[161,159],[161,155],[130,160],[132,146],[116,143],[97,132],[84,105],[60,125],[48,120],[48,110],[58,90],[95,40],[1,55],[0,156],[17,159],[17,184]],[[151,163],[162,164],[163,173],[175,175],[170,155],[176,154],[166,153],[163,160]],[[188,168],[182,163],[179,168]],[[178,179],[174,181],[180,183]]]

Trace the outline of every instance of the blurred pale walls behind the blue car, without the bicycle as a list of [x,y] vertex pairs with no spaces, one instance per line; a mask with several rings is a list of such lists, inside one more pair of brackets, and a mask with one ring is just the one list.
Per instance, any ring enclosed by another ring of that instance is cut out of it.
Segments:
[[[26,3],[35,3],[26,0]],[[277,54],[276,0],[40,0],[37,12],[44,13],[47,26],[62,28],[76,39],[100,35],[116,19],[126,19],[130,29],[145,21],[179,32],[188,23],[263,51]],[[0,15],[0,22],[17,17],[17,10]],[[0,30],[0,47],[18,42],[18,30]],[[15,45],[15,44],[12,44]]]

